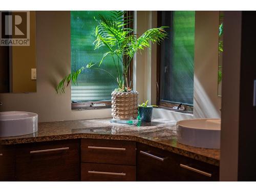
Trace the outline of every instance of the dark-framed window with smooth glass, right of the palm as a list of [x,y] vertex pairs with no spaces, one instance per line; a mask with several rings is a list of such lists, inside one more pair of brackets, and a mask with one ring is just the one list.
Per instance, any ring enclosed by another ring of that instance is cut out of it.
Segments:
[[193,111],[195,11],[160,11],[168,38],[158,46],[158,104]]

